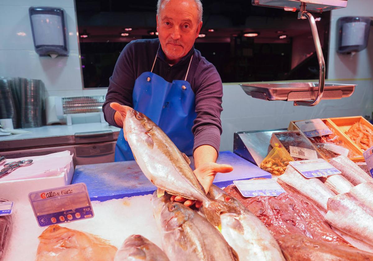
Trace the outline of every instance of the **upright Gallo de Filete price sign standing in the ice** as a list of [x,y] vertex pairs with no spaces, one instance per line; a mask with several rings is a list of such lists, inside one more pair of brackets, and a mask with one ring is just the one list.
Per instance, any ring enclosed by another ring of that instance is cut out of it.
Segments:
[[31,192],[28,197],[40,227],[94,216],[84,183]]

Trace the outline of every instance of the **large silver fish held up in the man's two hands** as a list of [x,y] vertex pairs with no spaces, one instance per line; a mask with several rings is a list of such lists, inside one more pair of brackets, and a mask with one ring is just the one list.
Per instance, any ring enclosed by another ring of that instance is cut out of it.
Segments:
[[172,195],[202,202],[201,211],[211,224],[220,227],[220,213],[238,213],[226,202],[209,199],[189,167],[189,158],[144,114],[129,110],[125,129],[135,160],[145,176],[158,188],[158,196]]

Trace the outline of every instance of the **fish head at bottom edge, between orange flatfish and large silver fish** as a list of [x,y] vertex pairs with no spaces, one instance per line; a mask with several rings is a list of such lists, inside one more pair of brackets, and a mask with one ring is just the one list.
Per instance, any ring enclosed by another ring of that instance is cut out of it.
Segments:
[[115,254],[114,261],[169,261],[156,244],[141,235],[131,235],[124,240]]

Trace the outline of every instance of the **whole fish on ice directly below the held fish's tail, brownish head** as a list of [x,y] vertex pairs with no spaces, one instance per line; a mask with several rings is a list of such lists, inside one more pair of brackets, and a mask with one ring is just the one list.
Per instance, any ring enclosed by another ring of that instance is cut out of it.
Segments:
[[172,261],[237,261],[236,252],[203,216],[154,192],[154,218],[162,234],[162,248]]

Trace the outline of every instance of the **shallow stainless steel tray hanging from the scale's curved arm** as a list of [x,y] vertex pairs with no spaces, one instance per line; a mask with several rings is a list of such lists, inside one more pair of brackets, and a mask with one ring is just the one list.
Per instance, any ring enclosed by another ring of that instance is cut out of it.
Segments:
[[[314,82],[280,82],[271,84],[240,84],[247,95],[266,101],[305,101],[317,97],[319,84]],[[354,84],[325,84],[322,100],[350,97]]]

